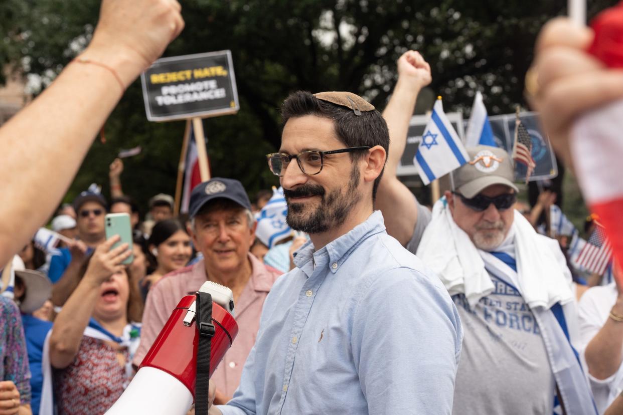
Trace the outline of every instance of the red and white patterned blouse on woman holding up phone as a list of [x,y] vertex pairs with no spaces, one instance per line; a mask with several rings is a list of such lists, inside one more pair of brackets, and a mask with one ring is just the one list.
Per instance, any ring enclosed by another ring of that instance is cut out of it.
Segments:
[[[119,350],[126,360],[127,349]],[[128,381],[117,350],[96,338],[82,337],[72,364],[54,370],[54,393],[59,415],[105,413],[123,393]]]

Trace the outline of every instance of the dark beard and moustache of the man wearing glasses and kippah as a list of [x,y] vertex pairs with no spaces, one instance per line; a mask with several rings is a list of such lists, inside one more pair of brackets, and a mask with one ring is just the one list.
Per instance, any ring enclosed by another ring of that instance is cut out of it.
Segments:
[[[341,194],[341,189],[326,194],[322,186],[312,184],[305,184],[296,190],[283,189],[283,195],[288,203],[285,221],[293,230],[311,234],[324,233],[331,227],[340,226],[346,220],[351,208],[361,199],[361,195],[356,191],[358,184],[359,166],[354,164],[345,195]],[[291,197],[315,195],[321,197],[320,205],[316,208],[306,207],[304,203],[290,202]]]

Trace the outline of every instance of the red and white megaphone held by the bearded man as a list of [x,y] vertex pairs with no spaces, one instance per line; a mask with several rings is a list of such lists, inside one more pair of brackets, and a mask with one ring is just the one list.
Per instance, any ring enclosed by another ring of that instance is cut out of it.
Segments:
[[[199,292],[212,296],[210,370],[214,369],[238,334],[233,314],[234,300],[229,288],[205,282]],[[197,292],[197,296],[199,295]],[[196,296],[185,296],[171,313],[138,372],[108,415],[183,415],[193,404],[197,374],[199,330],[196,322]],[[204,323],[204,326],[206,324]],[[207,391],[201,391],[206,393]]]

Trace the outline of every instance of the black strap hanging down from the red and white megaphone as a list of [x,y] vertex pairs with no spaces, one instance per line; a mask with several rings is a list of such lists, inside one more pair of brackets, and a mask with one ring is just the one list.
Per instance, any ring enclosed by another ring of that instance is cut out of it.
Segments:
[[212,324],[212,296],[209,292],[197,292],[195,324],[199,332],[197,344],[197,379],[195,385],[195,414],[207,415],[210,386],[210,352],[214,324]]

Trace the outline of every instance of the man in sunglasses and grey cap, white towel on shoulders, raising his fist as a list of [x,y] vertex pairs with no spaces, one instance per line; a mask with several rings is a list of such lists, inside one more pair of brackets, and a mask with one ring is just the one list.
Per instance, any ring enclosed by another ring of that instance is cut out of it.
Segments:
[[432,215],[396,177],[417,93],[430,83],[424,58],[398,61],[384,116],[391,132],[379,185],[388,233],[432,268],[465,327],[455,414],[594,414],[573,345],[579,340],[571,274],[556,240],[513,210],[514,167],[503,149],[468,147],[454,188]]

